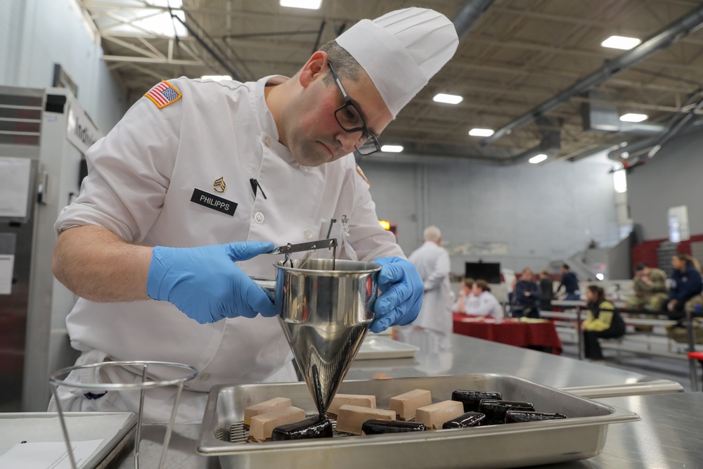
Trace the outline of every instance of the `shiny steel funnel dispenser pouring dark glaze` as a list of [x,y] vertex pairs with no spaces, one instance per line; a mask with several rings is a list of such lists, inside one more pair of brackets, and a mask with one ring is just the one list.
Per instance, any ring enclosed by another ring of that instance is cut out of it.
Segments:
[[373,321],[380,266],[308,259],[304,269],[276,264],[278,320],[321,415]]

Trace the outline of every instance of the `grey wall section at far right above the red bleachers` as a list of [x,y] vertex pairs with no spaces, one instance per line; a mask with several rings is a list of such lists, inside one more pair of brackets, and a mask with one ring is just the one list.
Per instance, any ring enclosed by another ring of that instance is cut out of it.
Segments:
[[669,207],[688,206],[692,235],[703,233],[703,130],[698,127],[667,142],[662,150],[627,175],[630,216],[645,240],[669,238]]

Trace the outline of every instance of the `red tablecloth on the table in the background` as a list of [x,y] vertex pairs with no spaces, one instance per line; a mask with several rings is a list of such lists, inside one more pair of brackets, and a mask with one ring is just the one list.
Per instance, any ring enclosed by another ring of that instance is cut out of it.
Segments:
[[518,319],[504,319],[496,323],[494,319],[481,319],[465,314],[454,314],[454,332],[478,339],[515,345],[515,347],[550,347],[553,354],[562,353],[554,323],[527,323]]

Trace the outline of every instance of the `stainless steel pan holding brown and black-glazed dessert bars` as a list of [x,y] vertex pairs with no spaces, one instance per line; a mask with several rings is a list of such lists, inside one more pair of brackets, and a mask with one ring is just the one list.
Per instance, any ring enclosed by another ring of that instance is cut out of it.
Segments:
[[231,425],[252,404],[289,397],[294,406],[316,413],[304,383],[219,385],[209,394],[198,452],[219,456],[222,468],[515,468],[592,458],[602,451],[611,423],[639,420],[636,413],[568,394],[522,378],[498,374],[345,381],[340,391],[375,394],[388,409],[393,396],[416,388],[433,401],[453,390],[497,391],[507,400],[530,401],[536,410],[569,418],[541,422],[434,430],[402,435],[364,435],[295,442],[231,443]]

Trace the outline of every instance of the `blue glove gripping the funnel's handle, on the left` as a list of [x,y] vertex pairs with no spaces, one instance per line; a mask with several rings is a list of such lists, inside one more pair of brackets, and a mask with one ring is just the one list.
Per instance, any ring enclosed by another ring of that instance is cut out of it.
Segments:
[[152,250],[146,293],[168,301],[201,324],[224,318],[276,316],[264,290],[233,261],[273,250],[273,243],[247,241],[201,248]]

